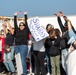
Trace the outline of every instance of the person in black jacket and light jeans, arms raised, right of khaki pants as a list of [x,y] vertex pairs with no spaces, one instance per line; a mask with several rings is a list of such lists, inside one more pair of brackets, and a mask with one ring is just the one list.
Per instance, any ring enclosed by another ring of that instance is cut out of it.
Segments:
[[[59,14],[54,14],[54,15],[57,16],[57,21],[58,21],[59,27],[62,31],[62,41],[61,41],[61,44],[60,44],[61,49],[62,49],[61,59],[62,59],[62,67],[63,67],[64,71],[66,72],[65,61],[66,61],[66,56],[67,56],[67,50],[69,48],[69,45],[67,44],[67,42],[69,40],[68,25],[67,25],[68,18],[63,14],[62,11],[60,11]],[[61,21],[60,16],[62,16],[64,21],[65,21],[64,25]],[[71,26],[72,26],[72,24],[71,24]],[[72,26],[72,29],[75,32],[75,29],[74,29],[73,26]]]

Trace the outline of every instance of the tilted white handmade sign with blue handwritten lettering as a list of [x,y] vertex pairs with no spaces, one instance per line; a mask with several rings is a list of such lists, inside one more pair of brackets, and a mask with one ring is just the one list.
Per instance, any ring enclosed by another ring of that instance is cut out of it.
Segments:
[[46,30],[40,25],[38,17],[28,19],[27,22],[30,32],[36,41],[40,41],[48,36]]

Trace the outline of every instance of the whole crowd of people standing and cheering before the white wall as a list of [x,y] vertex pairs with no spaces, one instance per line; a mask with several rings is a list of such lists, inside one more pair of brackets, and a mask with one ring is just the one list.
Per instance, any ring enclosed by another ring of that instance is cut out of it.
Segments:
[[[15,12],[14,27],[9,20],[3,19],[3,29],[0,31],[1,73],[6,75],[74,75],[69,73],[67,59],[68,53],[76,49],[76,32],[67,16],[62,11],[55,13],[60,29],[51,24],[47,24],[46,28],[41,26],[49,36],[37,42],[28,27],[27,12],[24,12],[24,22],[20,22],[19,25],[17,15],[18,12]],[[61,17],[65,21],[64,24]],[[16,56],[18,54],[21,58],[22,74],[19,74],[17,70],[19,62]]]

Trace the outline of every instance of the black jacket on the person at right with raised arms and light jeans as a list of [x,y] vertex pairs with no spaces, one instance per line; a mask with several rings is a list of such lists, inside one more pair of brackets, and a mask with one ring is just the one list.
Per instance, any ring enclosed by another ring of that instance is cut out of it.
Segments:
[[[61,31],[62,31],[62,41],[61,41],[61,45],[60,45],[60,46],[61,46],[62,49],[68,48],[69,45],[67,44],[67,42],[68,42],[68,40],[69,40],[70,38],[69,38],[69,34],[68,34],[68,29],[66,29],[66,28],[64,27],[64,25],[67,26],[67,21],[66,21],[65,24],[63,25],[60,17],[57,17],[57,20],[58,20],[59,27],[60,27],[60,29],[61,29]],[[71,25],[72,25],[72,24],[71,24]],[[73,29],[73,31],[75,32],[75,29],[74,29],[73,26],[72,26],[72,29]]]

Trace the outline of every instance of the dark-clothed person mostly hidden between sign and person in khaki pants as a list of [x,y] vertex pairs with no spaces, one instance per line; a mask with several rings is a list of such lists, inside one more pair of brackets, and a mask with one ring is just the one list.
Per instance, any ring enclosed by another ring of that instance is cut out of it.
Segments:
[[[51,24],[47,24],[46,25],[46,31],[48,32],[48,34],[49,34],[49,32],[52,29],[54,29],[53,25],[51,25]],[[45,45],[45,51],[46,51],[46,61],[47,61],[47,75],[49,75],[51,73],[50,56],[49,56],[49,48],[50,48],[50,46],[47,45],[47,42],[50,43],[49,40],[50,40],[49,37],[47,37],[46,40],[45,40],[45,43],[44,43],[44,45]]]

